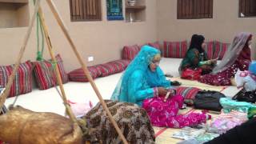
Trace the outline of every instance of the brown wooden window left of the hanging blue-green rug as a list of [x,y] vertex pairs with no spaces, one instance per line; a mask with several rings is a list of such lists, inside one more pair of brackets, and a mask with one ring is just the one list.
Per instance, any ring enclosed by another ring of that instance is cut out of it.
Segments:
[[101,21],[101,0],[70,0],[71,21]]

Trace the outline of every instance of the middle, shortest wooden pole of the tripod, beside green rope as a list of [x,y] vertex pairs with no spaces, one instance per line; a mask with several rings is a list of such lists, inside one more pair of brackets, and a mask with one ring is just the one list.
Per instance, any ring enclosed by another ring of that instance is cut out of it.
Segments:
[[40,18],[40,22],[42,24],[42,30],[43,30],[45,38],[46,38],[46,44],[47,44],[47,47],[48,47],[48,51],[50,53],[50,57],[53,60],[54,65],[55,65],[54,66],[55,74],[57,76],[58,85],[59,85],[59,87],[61,89],[61,92],[62,92],[62,100],[64,102],[64,106],[66,107],[66,113],[69,115],[71,121],[76,122],[78,124],[78,121],[75,118],[74,113],[70,109],[70,105],[68,104],[67,99],[66,99],[66,93],[65,93],[65,90],[64,90],[64,87],[63,87],[61,74],[60,74],[60,71],[58,69],[58,66],[56,66],[57,61],[56,61],[56,58],[54,57],[55,54],[54,54],[54,51],[53,51],[53,46],[51,45],[51,42],[50,42],[50,36],[49,36],[48,28],[46,26],[44,15],[42,13],[41,6],[39,6],[38,15],[39,15],[39,18]]

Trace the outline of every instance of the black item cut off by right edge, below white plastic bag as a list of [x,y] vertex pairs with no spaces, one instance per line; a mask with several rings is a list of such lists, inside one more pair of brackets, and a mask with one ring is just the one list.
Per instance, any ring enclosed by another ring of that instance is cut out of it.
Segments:
[[238,94],[235,94],[232,98],[234,100],[237,100],[239,102],[256,102],[256,90],[254,91],[246,91],[245,89],[242,89],[238,92]]

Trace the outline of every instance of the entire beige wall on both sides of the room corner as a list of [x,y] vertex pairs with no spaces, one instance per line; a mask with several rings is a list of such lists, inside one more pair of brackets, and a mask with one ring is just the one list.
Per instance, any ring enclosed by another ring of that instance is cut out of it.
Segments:
[[[214,0],[214,18],[193,20],[177,20],[177,0],[146,0],[146,22],[134,23],[107,21],[105,0],[102,0],[101,22],[70,22],[69,1],[54,0],[54,2],[82,58],[87,60],[88,56],[94,56],[94,62],[88,62],[89,66],[121,58],[121,50],[124,45],[143,44],[156,40],[160,42],[163,40],[189,40],[195,33],[204,34],[206,40],[216,39],[222,42],[231,42],[234,35],[240,31],[250,31],[252,34],[256,34],[256,18],[238,18],[238,0]],[[29,7],[31,16],[33,4],[30,3]],[[78,68],[78,61],[45,1],[42,1],[42,8],[55,53],[62,55],[67,71]],[[6,18],[6,14],[1,14],[1,10],[0,24],[5,22]],[[26,23],[26,18],[23,21]],[[22,19],[18,19],[18,22],[22,23]],[[0,28],[0,65],[15,62],[26,30],[27,27]],[[35,38],[33,29],[22,59],[23,62],[27,59],[35,59]],[[254,38],[254,49],[255,43],[256,38]],[[253,52],[255,58],[255,50]],[[45,58],[49,58],[48,53],[44,55]]]

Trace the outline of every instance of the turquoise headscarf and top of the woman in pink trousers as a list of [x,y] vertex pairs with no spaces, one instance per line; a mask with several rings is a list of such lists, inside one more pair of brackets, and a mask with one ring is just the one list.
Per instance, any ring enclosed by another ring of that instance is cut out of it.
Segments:
[[[124,74],[122,74],[112,94],[112,100],[133,102],[140,105],[142,99],[138,102],[138,98],[136,98],[137,95],[133,93],[138,90],[138,88],[142,89],[140,94],[145,95],[143,98],[150,98],[153,97],[153,87],[160,86],[161,84],[166,87],[170,86],[170,82],[166,81],[159,67],[157,67],[155,72],[150,71],[149,65],[156,54],[160,54],[160,51],[151,46],[142,47],[142,50],[140,50],[138,55],[127,67]],[[139,82],[137,82],[138,79],[140,79]],[[167,83],[169,83],[169,85]]]

